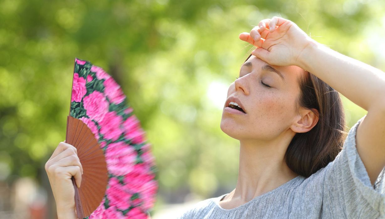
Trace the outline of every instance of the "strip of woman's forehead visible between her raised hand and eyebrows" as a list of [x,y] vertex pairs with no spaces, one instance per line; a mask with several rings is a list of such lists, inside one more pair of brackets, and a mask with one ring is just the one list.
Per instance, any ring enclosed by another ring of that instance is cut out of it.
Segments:
[[[274,69],[280,71],[280,73],[285,77],[285,81],[287,83],[298,83],[297,79],[305,74],[305,71],[295,65],[290,66],[278,66],[278,65],[270,65],[269,63],[257,58],[254,55],[251,55],[245,63],[251,63],[253,66],[253,71],[262,71],[262,67],[265,65],[269,65]],[[244,63],[243,63],[244,64]]]

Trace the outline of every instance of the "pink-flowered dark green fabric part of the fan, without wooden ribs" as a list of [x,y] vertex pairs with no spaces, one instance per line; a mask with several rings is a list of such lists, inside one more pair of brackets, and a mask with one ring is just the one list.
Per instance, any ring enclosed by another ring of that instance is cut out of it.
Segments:
[[104,198],[85,219],[149,218],[157,192],[155,161],[122,88],[99,66],[75,59],[70,115],[95,135],[109,175]]

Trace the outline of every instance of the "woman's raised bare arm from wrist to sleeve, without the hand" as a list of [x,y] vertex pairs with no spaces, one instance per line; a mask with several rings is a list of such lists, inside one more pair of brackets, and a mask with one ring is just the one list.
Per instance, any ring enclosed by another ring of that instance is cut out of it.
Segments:
[[385,73],[313,43],[300,59],[310,71],[368,111],[357,128],[357,151],[372,185],[385,166]]

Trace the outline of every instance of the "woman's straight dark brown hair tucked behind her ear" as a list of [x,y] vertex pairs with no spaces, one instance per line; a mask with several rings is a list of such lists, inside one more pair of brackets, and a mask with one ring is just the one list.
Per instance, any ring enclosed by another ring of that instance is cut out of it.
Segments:
[[297,113],[299,107],[310,109],[318,115],[318,123],[306,133],[295,134],[285,159],[292,171],[309,177],[341,151],[347,134],[345,113],[339,93],[315,75],[306,71],[298,82]]

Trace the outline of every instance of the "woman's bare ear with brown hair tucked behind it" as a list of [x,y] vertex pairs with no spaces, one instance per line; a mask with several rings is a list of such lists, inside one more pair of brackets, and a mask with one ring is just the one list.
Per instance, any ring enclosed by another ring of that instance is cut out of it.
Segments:
[[305,133],[310,131],[317,123],[318,123],[318,117],[319,112],[317,109],[313,110],[316,112],[314,113],[310,109],[301,109],[300,115],[297,117],[297,121],[295,121],[293,124],[291,124],[290,128],[296,133]]

